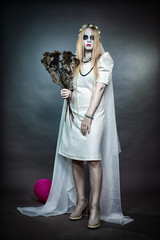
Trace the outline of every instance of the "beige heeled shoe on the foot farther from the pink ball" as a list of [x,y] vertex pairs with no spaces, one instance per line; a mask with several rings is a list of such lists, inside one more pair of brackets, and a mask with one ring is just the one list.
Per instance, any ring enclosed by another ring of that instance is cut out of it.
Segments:
[[88,221],[88,228],[89,229],[96,229],[101,226],[100,222],[100,209],[91,208],[90,211],[90,218]]

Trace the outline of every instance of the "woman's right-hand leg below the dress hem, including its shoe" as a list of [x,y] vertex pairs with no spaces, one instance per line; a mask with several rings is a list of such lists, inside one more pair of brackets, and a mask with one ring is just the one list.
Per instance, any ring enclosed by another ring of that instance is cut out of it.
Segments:
[[91,209],[88,226],[100,226],[100,195],[102,188],[101,161],[88,161],[91,188]]

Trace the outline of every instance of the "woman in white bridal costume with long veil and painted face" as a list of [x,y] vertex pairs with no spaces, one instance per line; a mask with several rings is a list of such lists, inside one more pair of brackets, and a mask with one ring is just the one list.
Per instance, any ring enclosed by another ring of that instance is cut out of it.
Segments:
[[[98,228],[100,219],[126,224],[133,219],[121,209],[119,140],[112,87],[113,60],[104,52],[98,27],[85,24],[77,42],[79,65],[74,91],[61,90],[64,98],[52,186],[44,206],[18,208],[28,216],[71,213],[69,219],[88,215],[88,228]],[[66,98],[74,115],[65,118]],[[88,164],[90,199],[85,196],[85,166]]]

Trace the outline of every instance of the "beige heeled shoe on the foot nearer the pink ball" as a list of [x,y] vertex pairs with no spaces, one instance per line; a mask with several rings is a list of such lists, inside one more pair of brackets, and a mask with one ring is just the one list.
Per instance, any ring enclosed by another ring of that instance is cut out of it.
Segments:
[[88,200],[85,200],[85,203],[82,206],[76,206],[75,210],[70,214],[70,220],[79,220],[82,216],[87,217],[89,211]]

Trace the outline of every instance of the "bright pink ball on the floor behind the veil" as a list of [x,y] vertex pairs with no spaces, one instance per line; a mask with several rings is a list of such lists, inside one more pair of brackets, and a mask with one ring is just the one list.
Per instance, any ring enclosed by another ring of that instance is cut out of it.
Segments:
[[34,193],[36,197],[42,201],[46,202],[50,188],[51,188],[52,181],[48,179],[39,179],[35,184],[34,184]]

